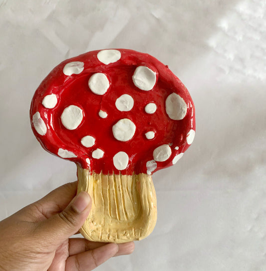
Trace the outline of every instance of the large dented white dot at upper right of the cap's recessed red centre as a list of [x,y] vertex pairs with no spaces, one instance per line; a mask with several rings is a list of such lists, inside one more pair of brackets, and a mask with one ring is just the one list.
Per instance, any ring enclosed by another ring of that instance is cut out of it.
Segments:
[[156,73],[146,67],[138,66],[132,76],[133,83],[141,90],[151,90],[156,83]]

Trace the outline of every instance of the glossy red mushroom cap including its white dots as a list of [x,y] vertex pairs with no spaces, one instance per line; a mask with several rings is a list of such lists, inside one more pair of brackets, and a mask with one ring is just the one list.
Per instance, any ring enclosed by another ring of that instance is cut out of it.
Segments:
[[56,66],[32,98],[30,120],[44,149],[90,172],[151,174],[192,143],[194,111],[168,66],[146,53],[108,49]]

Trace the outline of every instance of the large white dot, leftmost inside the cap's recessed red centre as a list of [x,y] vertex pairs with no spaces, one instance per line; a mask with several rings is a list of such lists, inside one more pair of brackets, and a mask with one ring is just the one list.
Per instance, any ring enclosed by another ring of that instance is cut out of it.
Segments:
[[69,105],[67,106],[62,114],[61,114],[61,121],[62,124],[68,130],[74,130],[78,127],[83,119],[83,112],[82,109],[76,105]]

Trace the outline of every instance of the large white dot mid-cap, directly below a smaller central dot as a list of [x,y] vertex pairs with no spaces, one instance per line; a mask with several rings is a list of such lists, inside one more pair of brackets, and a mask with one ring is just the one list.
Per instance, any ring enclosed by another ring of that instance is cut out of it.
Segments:
[[136,125],[128,118],[120,119],[113,125],[114,137],[119,141],[130,140],[135,131]]

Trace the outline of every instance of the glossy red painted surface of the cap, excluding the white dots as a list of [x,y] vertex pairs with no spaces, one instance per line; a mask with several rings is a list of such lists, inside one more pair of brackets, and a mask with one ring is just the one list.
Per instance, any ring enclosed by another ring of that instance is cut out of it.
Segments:
[[[124,151],[129,156],[129,163],[121,174],[133,172],[146,173],[146,162],[153,160],[153,151],[162,144],[171,147],[172,154],[166,161],[157,162],[158,169],[172,165],[173,158],[184,152],[189,144],[186,141],[188,132],[195,130],[195,108],[192,98],[184,84],[170,71],[168,66],[153,56],[128,49],[118,49],[121,58],[110,64],[104,64],[97,58],[99,50],[90,51],[67,59],[56,66],[37,88],[31,102],[30,120],[32,130],[44,149],[57,155],[58,149],[63,148],[73,152],[77,157],[67,158],[104,174],[118,174],[113,165],[113,156]],[[80,74],[67,76],[63,73],[65,64],[71,61],[84,62],[84,70]],[[157,82],[150,91],[140,90],[132,80],[136,67],[144,65],[156,72]],[[88,87],[88,80],[95,72],[103,72],[110,81],[110,87],[104,95],[93,93]],[[171,93],[179,94],[187,103],[187,113],[182,120],[169,118],[165,109],[165,101]],[[48,109],[42,105],[42,99],[48,94],[57,96],[57,104]],[[122,94],[129,94],[134,99],[134,106],[130,111],[119,111],[115,101]],[[145,112],[147,103],[154,102],[157,110],[153,114]],[[65,107],[77,105],[83,110],[83,120],[74,130],[66,129],[60,120]],[[107,112],[106,118],[98,115],[99,110]],[[47,127],[47,132],[40,135],[34,129],[32,116],[40,113]],[[122,118],[131,119],[136,125],[136,132],[132,139],[126,142],[114,138],[112,126]],[[147,139],[145,133],[154,131],[155,137]],[[93,136],[95,145],[84,147],[80,140],[86,135]],[[178,146],[178,149],[175,147]],[[92,151],[100,148],[104,156],[100,159],[92,158]],[[89,158],[88,164],[86,158]]]

